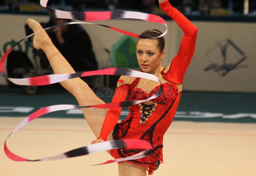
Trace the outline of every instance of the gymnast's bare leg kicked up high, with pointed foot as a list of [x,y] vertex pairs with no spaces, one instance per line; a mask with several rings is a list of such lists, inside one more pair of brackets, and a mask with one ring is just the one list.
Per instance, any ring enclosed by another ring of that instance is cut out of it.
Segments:
[[[31,28],[34,32],[43,30],[42,26],[35,20],[28,19],[27,23],[29,28]],[[76,73],[68,61],[54,46],[50,37],[45,31],[41,31],[35,34],[33,39],[33,46],[36,49],[42,49],[45,52],[55,74]],[[73,78],[62,81],[60,84],[76,97],[76,100],[80,106],[104,103],[80,78]],[[96,138],[98,138],[108,109],[82,108],[82,111],[85,119],[87,120],[87,123],[92,129],[92,132],[95,134]],[[110,137],[108,140],[113,140],[112,134],[109,136]]]

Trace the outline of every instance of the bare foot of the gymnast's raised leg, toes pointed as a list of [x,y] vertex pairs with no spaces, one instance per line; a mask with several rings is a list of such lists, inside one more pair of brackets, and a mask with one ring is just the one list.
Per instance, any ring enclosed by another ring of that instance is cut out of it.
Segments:
[[44,28],[36,21],[33,19],[28,19],[27,20],[28,26],[30,29],[34,31],[34,33],[38,32],[35,34],[35,37],[33,39],[33,46],[36,49],[43,49],[44,46],[47,46],[49,42],[51,42],[50,37],[48,34],[43,30]]

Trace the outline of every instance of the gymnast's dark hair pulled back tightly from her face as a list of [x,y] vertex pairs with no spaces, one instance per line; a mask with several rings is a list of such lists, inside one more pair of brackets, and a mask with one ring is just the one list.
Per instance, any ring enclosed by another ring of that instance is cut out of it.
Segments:
[[[161,36],[163,33],[158,30],[158,29],[151,29],[151,30],[146,30],[144,32],[142,32],[140,34],[140,37],[141,38],[148,38],[148,37],[158,37],[158,36]],[[148,38],[150,39],[150,38]],[[165,41],[164,41],[164,37],[158,37],[158,38],[153,38],[153,39],[156,39],[158,41],[158,45],[157,47],[160,49],[160,52],[163,52],[164,51],[164,45],[165,45]],[[137,40],[137,43],[140,39]],[[136,45],[137,45],[136,43]]]

